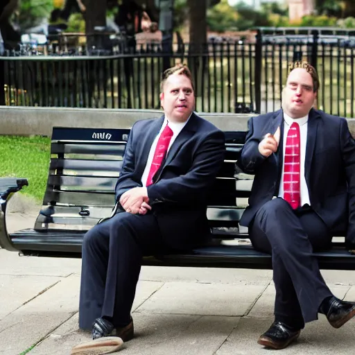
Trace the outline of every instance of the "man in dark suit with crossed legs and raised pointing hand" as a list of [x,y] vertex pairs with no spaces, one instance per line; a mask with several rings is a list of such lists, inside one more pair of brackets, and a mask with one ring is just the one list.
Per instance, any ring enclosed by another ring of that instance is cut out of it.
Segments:
[[313,251],[331,247],[336,230],[347,230],[355,247],[355,143],[343,118],[314,110],[315,69],[291,66],[282,110],[252,117],[239,166],[254,174],[241,225],[257,250],[272,254],[275,322],[258,343],[288,346],[305,322],[327,316],[341,327],[355,304],[331,294]]

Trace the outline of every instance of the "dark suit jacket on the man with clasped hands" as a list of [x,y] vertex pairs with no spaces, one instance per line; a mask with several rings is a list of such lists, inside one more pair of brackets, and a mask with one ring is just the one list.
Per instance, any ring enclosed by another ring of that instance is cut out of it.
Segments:
[[[150,147],[164,122],[138,121],[133,125],[116,183],[116,200],[134,187],[141,187],[141,176]],[[166,245],[191,248],[209,234],[207,194],[223,164],[224,133],[212,123],[192,114],[171,148],[165,162],[147,188],[149,204],[157,217]]]

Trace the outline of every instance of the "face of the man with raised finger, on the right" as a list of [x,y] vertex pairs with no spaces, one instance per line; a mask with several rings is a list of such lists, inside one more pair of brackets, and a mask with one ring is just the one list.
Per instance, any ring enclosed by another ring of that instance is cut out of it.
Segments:
[[282,91],[284,112],[293,119],[300,119],[309,114],[316,97],[311,74],[306,69],[293,69]]

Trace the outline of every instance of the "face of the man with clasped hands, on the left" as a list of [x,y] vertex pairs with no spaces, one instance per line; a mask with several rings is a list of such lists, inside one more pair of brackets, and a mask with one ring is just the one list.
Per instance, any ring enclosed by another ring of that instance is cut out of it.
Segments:
[[168,76],[160,94],[160,102],[172,122],[187,121],[195,107],[195,96],[189,78],[183,74]]

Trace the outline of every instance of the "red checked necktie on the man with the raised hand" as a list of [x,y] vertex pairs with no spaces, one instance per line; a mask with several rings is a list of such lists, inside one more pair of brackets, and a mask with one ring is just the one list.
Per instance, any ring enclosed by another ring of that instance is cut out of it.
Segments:
[[288,130],[284,157],[284,200],[286,200],[293,209],[300,207],[300,125],[293,122]]

